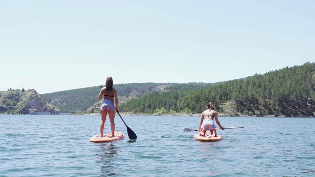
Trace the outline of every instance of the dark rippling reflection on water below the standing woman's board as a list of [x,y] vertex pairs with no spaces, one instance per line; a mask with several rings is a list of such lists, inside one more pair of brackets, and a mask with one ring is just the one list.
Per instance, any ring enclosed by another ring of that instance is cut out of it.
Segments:
[[99,151],[99,157],[96,162],[100,166],[100,177],[120,175],[114,172],[115,165],[112,163],[112,160],[117,158],[117,152],[119,152],[114,143],[99,144]]

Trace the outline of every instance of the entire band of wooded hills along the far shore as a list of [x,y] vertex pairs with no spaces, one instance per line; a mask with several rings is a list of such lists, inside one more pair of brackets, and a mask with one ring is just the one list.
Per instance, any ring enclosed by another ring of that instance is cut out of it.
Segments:
[[[315,117],[315,63],[285,67],[263,75],[220,83],[117,84],[119,110],[125,114],[200,114],[212,101],[220,116]],[[99,113],[100,87],[39,95],[34,89],[0,92],[0,112]]]

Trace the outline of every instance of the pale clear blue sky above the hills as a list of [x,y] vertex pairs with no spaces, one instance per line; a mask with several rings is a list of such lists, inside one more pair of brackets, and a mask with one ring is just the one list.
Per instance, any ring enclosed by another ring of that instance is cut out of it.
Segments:
[[315,61],[315,0],[0,0],[0,91],[216,83]]

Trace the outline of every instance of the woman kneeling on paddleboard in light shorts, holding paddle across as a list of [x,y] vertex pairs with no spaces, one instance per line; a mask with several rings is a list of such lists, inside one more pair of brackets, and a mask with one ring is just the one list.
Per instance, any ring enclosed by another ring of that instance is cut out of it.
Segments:
[[224,127],[222,127],[219,122],[216,108],[213,106],[212,102],[209,102],[207,104],[207,110],[201,114],[201,121],[199,124],[200,136],[205,136],[208,129],[210,130],[211,136],[217,136],[216,126],[213,119],[216,119],[216,122],[220,126],[221,130],[224,130]]

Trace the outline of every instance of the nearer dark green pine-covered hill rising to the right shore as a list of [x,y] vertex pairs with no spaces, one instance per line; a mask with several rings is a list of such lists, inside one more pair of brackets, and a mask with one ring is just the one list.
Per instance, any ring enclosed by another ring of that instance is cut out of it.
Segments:
[[191,92],[170,90],[120,106],[134,114],[201,113],[209,101],[225,116],[315,117],[315,63],[285,67]]

